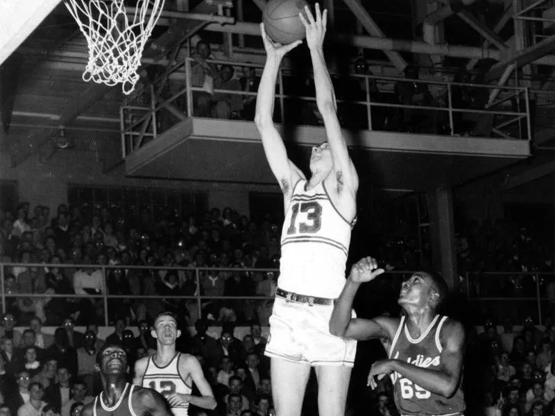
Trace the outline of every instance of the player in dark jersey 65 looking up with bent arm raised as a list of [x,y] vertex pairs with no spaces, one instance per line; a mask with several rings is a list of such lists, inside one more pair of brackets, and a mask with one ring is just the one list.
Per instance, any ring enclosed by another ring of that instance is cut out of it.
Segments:
[[404,311],[401,318],[351,318],[360,284],[383,272],[370,257],[352,266],[334,306],[330,331],[354,340],[382,340],[389,359],[374,363],[368,384],[375,388],[375,377],[390,374],[401,415],[462,415],[465,334],[461,322],[437,313],[447,296],[441,277],[416,272],[403,282],[398,300]]

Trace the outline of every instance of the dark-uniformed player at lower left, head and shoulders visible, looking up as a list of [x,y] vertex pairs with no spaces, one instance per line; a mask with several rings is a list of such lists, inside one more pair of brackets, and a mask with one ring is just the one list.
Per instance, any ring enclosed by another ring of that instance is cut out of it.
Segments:
[[82,416],[171,416],[159,392],[126,382],[127,354],[118,345],[105,345],[96,354],[103,391],[83,408]]

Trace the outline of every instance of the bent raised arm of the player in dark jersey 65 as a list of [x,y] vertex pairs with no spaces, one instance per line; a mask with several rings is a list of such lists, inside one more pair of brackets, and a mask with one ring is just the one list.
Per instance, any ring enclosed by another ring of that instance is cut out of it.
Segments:
[[395,318],[377,317],[373,319],[351,318],[352,301],[362,283],[371,281],[381,275],[384,269],[377,268],[377,262],[371,257],[360,259],[351,268],[343,291],[335,301],[330,333],[334,336],[368,340],[370,338],[393,338],[399,320]]

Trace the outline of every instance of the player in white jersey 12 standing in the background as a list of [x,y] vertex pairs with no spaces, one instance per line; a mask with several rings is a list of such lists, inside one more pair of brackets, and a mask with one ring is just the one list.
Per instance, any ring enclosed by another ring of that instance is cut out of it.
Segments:
[[[162,393],[174,416],[187,416],[189,404],[204,409],[216,408],[212,388],[196,357],[176,352],[176,339],[181,336],[181,331],[173,314],[163,312],[157,315],[152,336],[156,338],[156,352],[135,363],[133,382]],[[192,383],[202,396],[191,395]]]

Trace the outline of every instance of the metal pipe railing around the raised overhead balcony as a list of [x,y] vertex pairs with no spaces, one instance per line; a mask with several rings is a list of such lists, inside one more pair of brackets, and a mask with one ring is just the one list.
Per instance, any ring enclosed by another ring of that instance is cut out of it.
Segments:
[[[237,69],[254,67],[259,75],[262,70],[257,64],[208,62],[230,64],[236,73]],[[196,114],[196,100],[200,94],[207,95],[207,92],[203,87],[192,85],[191,68],[195,64],[194,59],[186,58],[142,90],[135,100],[139,104],[121,107],[124,158],[172,125]],[[526,87],[373,75],[332,74],[332,81],[343,128],[503,139],[531,138]],[[214,87],[214,102],[225,101],[233,95],[241,96],[241,100],[256,96],[256,92],[221,89],[218,85]],[[409,96],[405,94],[407,92]],[[311,78],[303,79],[280,70],[275,94],[275,121],[322,125],[314,94]],[[235,119],[252,121],[253,111],[244,112]]]

